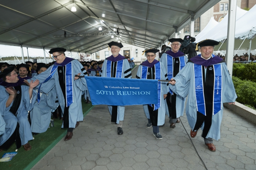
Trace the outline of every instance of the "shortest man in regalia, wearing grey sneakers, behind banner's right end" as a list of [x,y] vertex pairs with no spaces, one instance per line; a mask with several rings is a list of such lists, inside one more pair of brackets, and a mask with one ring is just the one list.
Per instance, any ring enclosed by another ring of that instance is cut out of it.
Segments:
[[[165,68],[162,63],[155,59],[158,49],[148,49],[142,51],[146,52],[147,60],[139,65],[136,78],[139,79],[155,79],[155,80],[168,80]],[[142,55],[143,55],[142,54]],[[157,139],[162,139],[159,132],[159,126],[162,126],[165,121],[165,104],[164,100],[167,96],[169,88],[167,82],[158,81],[158,104],[143,105],[144,112],[148,118],[147,128],[153,126],[153,134]]]

